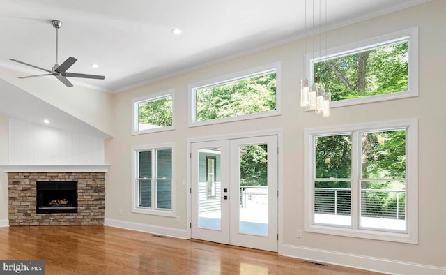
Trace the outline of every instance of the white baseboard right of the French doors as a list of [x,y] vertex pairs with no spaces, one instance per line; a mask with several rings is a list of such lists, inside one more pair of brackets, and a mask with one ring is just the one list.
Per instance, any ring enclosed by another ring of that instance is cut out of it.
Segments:
[[303,246],[293,246],[289,244],[284,244],[284,246],[282,246],[280,254],[293,258],[300,258],[302,260],[311,260],[312,262],[323,262],[326,264],[365,269],[385,274],[446,274],[446,267],[420,265],[413,262],[400,262],[383,258],[373,258],[363,255],[340,253],[337,251],[325,251]]

